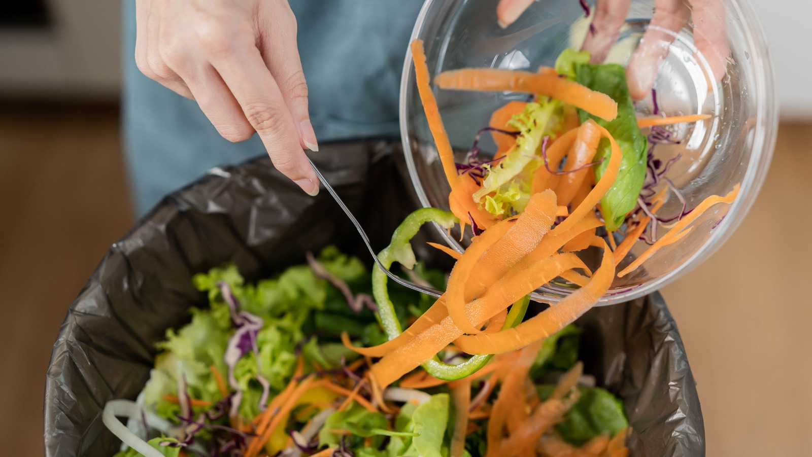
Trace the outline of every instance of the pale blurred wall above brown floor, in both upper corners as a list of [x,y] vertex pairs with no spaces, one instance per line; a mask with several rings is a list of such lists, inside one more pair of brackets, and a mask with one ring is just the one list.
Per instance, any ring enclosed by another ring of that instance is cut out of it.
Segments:
[[[782,117],[812,119],[812,0],[750,2],[771,44]],[[120,0],[50,0],[50,6],[54,32],[0,32],[0,97],[115,97]]]

